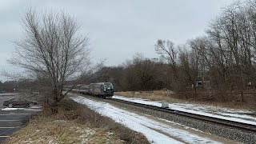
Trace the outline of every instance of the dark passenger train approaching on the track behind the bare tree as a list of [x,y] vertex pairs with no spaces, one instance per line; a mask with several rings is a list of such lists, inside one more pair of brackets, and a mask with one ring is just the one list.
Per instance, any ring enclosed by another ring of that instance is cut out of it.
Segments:
[[114,95],[114,86],[111,82],[90,83],[90,85],[64,86],[63,90],[74,93],[89,94],[101,98],[111,98]]

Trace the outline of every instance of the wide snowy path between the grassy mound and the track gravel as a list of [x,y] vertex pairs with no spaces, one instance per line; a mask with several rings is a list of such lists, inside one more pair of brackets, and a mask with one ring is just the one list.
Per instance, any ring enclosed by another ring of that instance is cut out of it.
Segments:
[[114,119],[115,122],[122,123],[131,130],[144,134],[152,143],[220,143],[216,140],[218,138],[210,138],[205,135],[199,136],[202,134],[178,129],[174,125],[153,120],[152,118],[147,118],[146,116],[141,116],[127,110],[122,110],[106,102],[96,102],[77,95],[70,98],[75,102],[90,107],[90,109],[97,111],[99,114]]

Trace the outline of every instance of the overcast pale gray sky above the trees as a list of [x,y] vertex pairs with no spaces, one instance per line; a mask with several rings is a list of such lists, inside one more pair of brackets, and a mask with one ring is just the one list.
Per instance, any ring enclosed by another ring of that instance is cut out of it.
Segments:
[[[0,70],[16,70],[6,62],[14,39],[22,38],[21,17],[27,7],[65,10],[89,34],[92,57],[116,66],[142,53],[156,58],[154,44],[170,39],[176,45],[204,34],[210,20],[233,0],[0,0]],[[0,78],[1,80],[1,78]]]

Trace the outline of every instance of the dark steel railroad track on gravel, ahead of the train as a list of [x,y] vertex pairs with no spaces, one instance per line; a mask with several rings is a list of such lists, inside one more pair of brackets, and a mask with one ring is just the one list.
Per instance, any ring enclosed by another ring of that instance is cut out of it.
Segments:
[[200,120],[206,121],[206,122],[214,122],[214,123],[217,123],[217,124],[220,124],[223,126],[230,126],[235,129],[246,130],[246,131],[256,133],[256,126],[247,124],[247,123],[243,123],[243,122],[234,122],[234,121],[221,119],[221,118],[213,118],[213,117],[200,115],[200,114],[192,114],[192,113],[188,113],[188,112],[184,112],[184,111],[180,111],[180,110],[172,110],[170,108],[151,106],[151,105],[146,105],[146,104],[142,104],[142,103],[138,103],[138,102],[128,102],[128,101],[124,101],[121,99],[110,98],[109,100],[114,101],[114,102],[122,102],[122,103],[126,103],[126,104],[133,105],[133,106],[142,106],[142,107],[145,107],[145,108],[148,108],[151,110],[159,110],[159,111],[170,113],[170,114],[177,114],[177,115],[181,115],[181,116],[184,116],[187,118],[200,119]]

